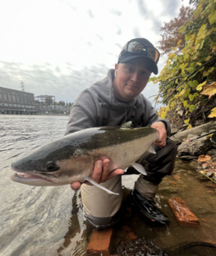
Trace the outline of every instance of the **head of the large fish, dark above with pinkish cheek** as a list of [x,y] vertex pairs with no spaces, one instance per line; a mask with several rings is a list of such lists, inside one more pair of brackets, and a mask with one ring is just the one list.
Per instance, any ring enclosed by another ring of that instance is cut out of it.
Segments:
[[[53,149],[54,148],[54,149]],[[92,172],[93,162],[84,148],[49,143],[21,159],[11,168],[16,172],[12,181],[32,186],[59,186],[73,181],[83,182]]]

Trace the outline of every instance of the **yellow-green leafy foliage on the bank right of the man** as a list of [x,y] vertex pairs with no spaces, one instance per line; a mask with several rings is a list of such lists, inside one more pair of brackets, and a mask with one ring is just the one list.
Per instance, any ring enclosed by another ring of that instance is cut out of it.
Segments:
[[[206,97],[216,97],[216,0],[200,0],[178,30],[184,47],[180,50],[181,42],[173,45],[161,74],[152,81],[160,82],[162,102],[176,114],[181,109],[189,125],[194,111],[208,109]],[[209,117],[216,117],[215,108],[209,110]],[[159,113],[164,115],[164,108]]]

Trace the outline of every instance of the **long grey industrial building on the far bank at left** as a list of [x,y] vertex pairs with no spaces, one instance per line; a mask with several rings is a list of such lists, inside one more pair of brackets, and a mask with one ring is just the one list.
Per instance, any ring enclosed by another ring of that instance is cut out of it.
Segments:
[[34,94],[0,87],[0,114],[33,115],[35,112]]

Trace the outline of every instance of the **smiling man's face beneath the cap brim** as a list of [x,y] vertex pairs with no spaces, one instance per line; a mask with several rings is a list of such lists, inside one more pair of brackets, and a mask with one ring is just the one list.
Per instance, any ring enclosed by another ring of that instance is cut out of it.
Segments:
[[147,64],[143,62],[143,58],[116,64],[115,70],[117,71],[113,89],[120,101],[129,102],[143,91],[151,74],[146,67]]

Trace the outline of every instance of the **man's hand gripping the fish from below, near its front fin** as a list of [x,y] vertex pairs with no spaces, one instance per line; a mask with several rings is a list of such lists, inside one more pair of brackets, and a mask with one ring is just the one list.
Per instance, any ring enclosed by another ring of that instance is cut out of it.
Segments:
[[[93,171],[91,178],[93,181],[96,181],[97,183],[102,183],[108,180],[111,180],[114,176],[124,174],[124,170],[122,169],[116,169],[114,171],[110,171],[110,163],[111,161],[108,158],[105,158],[102,160],[97,160],[94,163]],[[91,185],[89,182],[85,182],[88,185]],[[78,190],[81,187],[81,183],[78,181],[75,181],[71,184],[71,188],[73,190]]]

